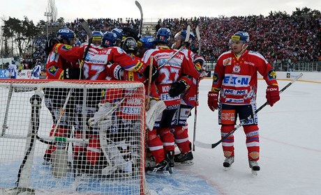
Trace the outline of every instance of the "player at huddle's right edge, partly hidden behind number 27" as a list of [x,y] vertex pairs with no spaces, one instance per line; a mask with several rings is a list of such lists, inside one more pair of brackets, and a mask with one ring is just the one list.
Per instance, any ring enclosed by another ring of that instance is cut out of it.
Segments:
[[[186,30],[179,31],[174,36],[173,49],[184,49],[181,50],[186,56],[186,58],[191,59],[198,69],[202,69],[204,65],[204,58],[202,56],[195,56],[195,54],[188,49],[191,46],[193,40],[195,40],[194,34],[191,32],[188,42],[184,42],[186,39]],[[204,75],[204,74],[202,74]],[[191,141],[188,140],[188,124],[187,118],[191,115],[191,109],[195,107],[195,97],[197,93],[197,82],[198,79],[194,79],[188,75],[184,75],[179,80],[179,85],[172,85],[170,88],[170,96],[176,97],[181,92],[181,105],[174,116],[172,123],[172,132],[174,133],[175,143],[180,150],[180,154],[174,155],[174,162],[179,164],[193,164],[193,153],[191,148]],[[188,87],[185,91],[179,90],[181,84],[186,83]]]

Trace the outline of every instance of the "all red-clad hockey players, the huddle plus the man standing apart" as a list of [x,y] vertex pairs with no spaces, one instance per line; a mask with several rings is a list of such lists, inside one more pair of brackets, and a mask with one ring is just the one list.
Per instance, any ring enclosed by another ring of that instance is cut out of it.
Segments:
[[[70,29],[60,29],[57,37],[50,39],[46,45],[47,79],[141,81],[148,89],[147,109],[163,105],[156,116],[149,115],[147,111],[147,117],[152,121],[149,123],[147,120],[147,156],[153,159],[146,162],[147,173],[173,173],[175,164],[193,164],[187,118],[191,115],[191,109],[197,106],[198,84],[206,75],[204,58],[189,49],[195,34],[181,30],[175,34],[173,45],[170,45],[171,31],[166,28],[158,29],[156,37],[139,36],[129,28],[112,29],[105,33],[93,31],[92,37],[91,45],[84,43],[73,47],[75,33]],[[208,106],[212,111],[218,109],[222,138],[234,129],[237,117],[245,121],[248,163],[253,171],[259,171],[259,128],[255,114],[257,72],[267,82],[267,102],[273,106],[280,97],[274,69],[261,54],[247,50],[248,42],[249,35],[243,31],[231,37],[231,50],[218,58],[208,94]],[[80,125],[84,114],[82,91],[66,88],[45,88],[44,91],[45,104],[54,120],[50,136],[70,137],[73,126],[73,137],[84,137]],[[130,145],[130,141],[120,137],[107,137],[107,141],[101,137],[110,132],[122,134],[124,129],[135,131],[128,121],[135,120],[135,116],[143,113],[126,114],[114,110],[114,104],[121,104],[117,102],[121,94],[130,96],[130,90],[89,89],[89,92],[94,94],[89,95],[86,102],[88,131],[85,137],[89,143],[73,143],[73,157],[80,169],[96,170],[102,166],[101,159],[108,158],[108,155],[115,157],[117,155],[114,152],[119,152],[119,146]],[[69,100],[70,93],[73,93],[73,98]],[[61,117],[59,114],[66,101],[70,103]],[[106,116],[111,110],[113,114]],[[112,122],[114,120],[119,122],[115,124]],[[135,140],[131,143],[135,143]],[[175,145],[180,151],[178,154],[174,153]],[[234,162],[233,134],[223,140],[222,146],[225,156],[223,166],[229,168]],[[48,146],[45,164],[50,164],[54,150],[56,146]],[[124,155],[118,162],[126,164]],[[126,164],[118,169],[128,171],[132,165]]]

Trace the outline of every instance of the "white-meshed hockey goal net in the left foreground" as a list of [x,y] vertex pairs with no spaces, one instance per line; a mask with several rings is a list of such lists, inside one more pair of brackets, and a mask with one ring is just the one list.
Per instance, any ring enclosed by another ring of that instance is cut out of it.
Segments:
[[144,85],[0,80],[0,194],[148,194]]

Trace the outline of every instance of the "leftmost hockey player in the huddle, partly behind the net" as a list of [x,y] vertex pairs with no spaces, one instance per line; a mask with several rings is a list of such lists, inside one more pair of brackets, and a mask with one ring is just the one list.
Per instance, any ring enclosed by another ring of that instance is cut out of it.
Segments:
[[[59,29],[56,38],[47,42],[45,52],[48,55],[46,72],[47,79],[79,79],[80,69],[78,61],[82,59],[84,48],[72,47],[75,44],[75,33],[70,29]],[[70,137],[71,113],[73,112],[73,102],[70,98],[62,116],[61,109],[67,101],[68,88],[44,88],[45,105],[49,109],[53,118],[52,130],[50,137]],[[57,122],[59,121],[59,124]],[[56,127],[57,125],[57,127]],[[56,133],[54,134],[54,130]],[[54,135],[53,135],[54,134]],[[55,146],[49,145],[45,151],[44,164],[50,164],[51,154]]]

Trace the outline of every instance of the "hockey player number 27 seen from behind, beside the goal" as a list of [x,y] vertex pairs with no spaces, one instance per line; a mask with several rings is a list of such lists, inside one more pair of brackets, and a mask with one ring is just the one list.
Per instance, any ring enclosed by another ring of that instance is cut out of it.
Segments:
[[[168,47],[169,40],[170,29],[160,28],[156,34],[156,49],[147,50],[142,58],[144,63],[150,63],[150,56],[154,56],[153,65],[158,68],[159,72],[156,86],[160,100],[166,104],[166,109],[156,119],[153,130],[148,132],[147,145],[156,161],[156,166],[149,167],[147,171],[150,174],[156,174],[157,171],[170,171],[171,173],[174,166],[174,137],[170,132],[170,126],[179,108],[180,96],[170,97],[171,86],[177,84],[183,74],[194,78],[200,77],[200,72],[197,72],[193,62],[186,59],[183,53],[179,52],[172,56],[177,51]],[[187,84],[183,83],[183,85],[187,87]]]

